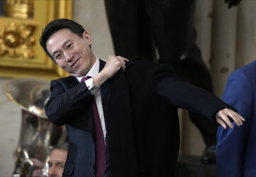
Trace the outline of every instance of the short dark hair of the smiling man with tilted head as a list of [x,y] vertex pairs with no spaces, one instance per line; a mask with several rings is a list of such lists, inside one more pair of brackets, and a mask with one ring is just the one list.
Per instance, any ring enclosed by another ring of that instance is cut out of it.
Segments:
[[67,28],[71,30],[73,33],[80,36],[80,38],[82,38],[82,33],[85,32],[85,28],[83,28],[82,25],[66,18],[59,18],[48,23],[48,25],[46,25],[46,28],[44,28],[41,34],[41,38],[39,39],[39,42],[41,47],[43,47],[43,50],[50,57],[50,59],[53,60],[53,62],[55,62],[55,60],[46,49],[46,42],[51,35],[56,33],[58,30],[62,30],[63,28]]

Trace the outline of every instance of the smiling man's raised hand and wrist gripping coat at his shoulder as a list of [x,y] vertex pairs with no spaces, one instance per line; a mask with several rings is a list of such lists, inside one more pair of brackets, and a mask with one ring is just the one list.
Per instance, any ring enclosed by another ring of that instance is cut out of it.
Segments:
[[110,55],[107,58],[107,62],[102,71],[93,77],[93,83],[96,86],[101,86],[107,79],[117,74],[119,69],[125,69],[125,62],[129,62],[129,59],[120,56]]

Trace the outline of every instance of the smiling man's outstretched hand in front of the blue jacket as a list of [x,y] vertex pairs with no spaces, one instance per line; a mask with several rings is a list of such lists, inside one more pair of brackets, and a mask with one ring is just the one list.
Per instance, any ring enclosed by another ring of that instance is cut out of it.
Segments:
[[234,120],[235,124],[238,126],[242,125],[242,122],[245,121],[245,119],[242,118],[241,115],[229,108],[219,110],[218,113],[216,113],[215,118],[218,124],[223,126],[224,129],[227,129],[227,125],[228,127],[233,128],[230,119]]

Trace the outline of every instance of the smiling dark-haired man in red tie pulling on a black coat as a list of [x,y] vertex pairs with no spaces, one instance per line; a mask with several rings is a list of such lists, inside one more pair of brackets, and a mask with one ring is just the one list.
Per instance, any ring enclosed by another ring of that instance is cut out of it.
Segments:
[[46,103],[50,121],[68,130],[63,176],[174,176],[178,107],[225,128],[233,127],[228,117],[242,125],[243,118],[230,105],[183,83],[169,65],[115,56],[106,63],[97,59],[89,33],[75,21],[50,22],[40,41],[71,75],[51,81]]

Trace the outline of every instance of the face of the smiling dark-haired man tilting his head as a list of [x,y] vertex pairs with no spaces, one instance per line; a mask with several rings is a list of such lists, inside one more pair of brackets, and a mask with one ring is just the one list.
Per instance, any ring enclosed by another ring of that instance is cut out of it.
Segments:
[[90,49],[92,41],[87,32],[82,38],[67,28],[58,30],[46,42],[46,48],[55,62],[71,76],[85,76],[95,63]]

